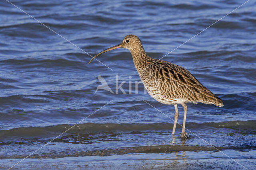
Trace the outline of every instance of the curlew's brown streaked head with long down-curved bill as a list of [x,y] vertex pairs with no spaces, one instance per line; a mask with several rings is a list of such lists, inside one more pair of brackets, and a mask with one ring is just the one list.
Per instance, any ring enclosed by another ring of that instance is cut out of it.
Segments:
[[102,52],[95,55],[89,62],[89,64],[92,62],[93,59],[101,55],[102,53],[106,53],[107,51],[118,49],[118,48],[124,48],[130,50],[132,53],[133,51],[139,51],[140,49],[143,49],[142,44],[140,42],[139,37],[136,35],[126,35],[122,41],[122,43],[115,45],[113,47],[110,47],[108,49],[103,50]]

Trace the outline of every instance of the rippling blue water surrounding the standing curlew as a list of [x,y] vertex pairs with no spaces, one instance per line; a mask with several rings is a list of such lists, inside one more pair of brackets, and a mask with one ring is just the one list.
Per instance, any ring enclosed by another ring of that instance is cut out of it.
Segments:
[[[150,57],[160,59],[243,2],[12,3],[92,56],[134,34]],[[163,58],[188,69],[224,101],[224,107],[188,104],[190,139],[184,141],[179,137],[180,125],[176,138],[171,136],[174,106],[144,93],[127,49],[97,58],[109,68],[96,60],[88,64],[88,54],[1,1],[0,162],[14,159],[8,163],[12,166],[93,113],[30,158],[58,158],[58,162],[82,156],[90,161],[90,156],[108,159],[116,154],[124,156],[112,160],[136,161],[145,155],[175,159],[176,152],[187,152],[182,159],[189,159],[199,152],[197,159],[224,159],[228,158],[225,153],[252,168],[251,159],[256,158],[255,9],[256,3],[249,1]],[[113,93],[97,90],[102,80]],[[122,82],[124,91],[116,91],[116,83]],[[178,108],[182,124],[183,109]]]

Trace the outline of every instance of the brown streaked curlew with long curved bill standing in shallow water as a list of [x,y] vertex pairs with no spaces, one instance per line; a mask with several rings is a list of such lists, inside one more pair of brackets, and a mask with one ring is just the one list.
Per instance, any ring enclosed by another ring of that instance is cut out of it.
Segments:
[[[101,55],[110,50],[125,48],[130,50],[134,66],[138,71],[148,94],[158,102],[172,104],[175,107],[174,125],[172,135],[174,136],[177,120],[179,117],[178,104],[184,108],[184,119],[181,137],[188,138],[185,132],[185,123],[188,107],[186,103],[198,102],[204,104],[214,104],[222,107],[223,101],[204,87],[188,70],[167,61],[153,59],[147,56],[140,39],[136,35],[126,35],[122,43],[110,47],[97,55]],[[89,64],[91,63],[89,62]]]

